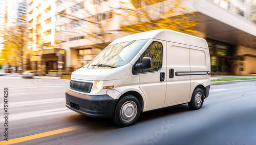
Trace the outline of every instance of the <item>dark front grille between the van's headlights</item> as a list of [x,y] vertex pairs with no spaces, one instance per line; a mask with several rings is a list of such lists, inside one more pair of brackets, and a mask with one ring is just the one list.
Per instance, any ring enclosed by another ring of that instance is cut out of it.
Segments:
[[75,91],[90,93],[92,86],[93,86],[93,83],[90,83],[90,82],[78,82],[74,80],[70,81],[70,89]]

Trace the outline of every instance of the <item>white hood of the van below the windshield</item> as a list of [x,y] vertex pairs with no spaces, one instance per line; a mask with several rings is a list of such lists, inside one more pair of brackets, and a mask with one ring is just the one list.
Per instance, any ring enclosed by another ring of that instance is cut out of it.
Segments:
[[132,64],[128,63],[124,66],[111,69],[88,69],[87,66],[74,71],[71,74],[71,79],[101,81],[122,79],[123,72],[131,71]]

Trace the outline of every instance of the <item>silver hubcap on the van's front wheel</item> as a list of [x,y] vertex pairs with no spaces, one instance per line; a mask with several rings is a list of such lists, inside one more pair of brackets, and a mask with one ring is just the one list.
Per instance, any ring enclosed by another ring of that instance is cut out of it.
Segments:
[[121,119],[124,122],[130,122],[132,121],[137,114],[137,105],[135,102],[133,101],[126,101],[125,103],[123,103],[122,107],[121,107]]

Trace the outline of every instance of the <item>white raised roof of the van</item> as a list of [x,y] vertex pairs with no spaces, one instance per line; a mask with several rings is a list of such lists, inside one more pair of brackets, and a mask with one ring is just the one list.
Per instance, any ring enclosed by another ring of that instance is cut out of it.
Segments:
[[126,42],[126,41],[133,41],[133,40],[140,40],[140,39],[149,39],[149,38],[160,39],[160,40],[208,49],[207,42],[202,38],[187,35],[184,33],[179,33],[172,30],[167,30],[167,29],[152,30],[152,31],[141,32],[133,35],[124,36],[119,39],[116,39],[111,44]]

